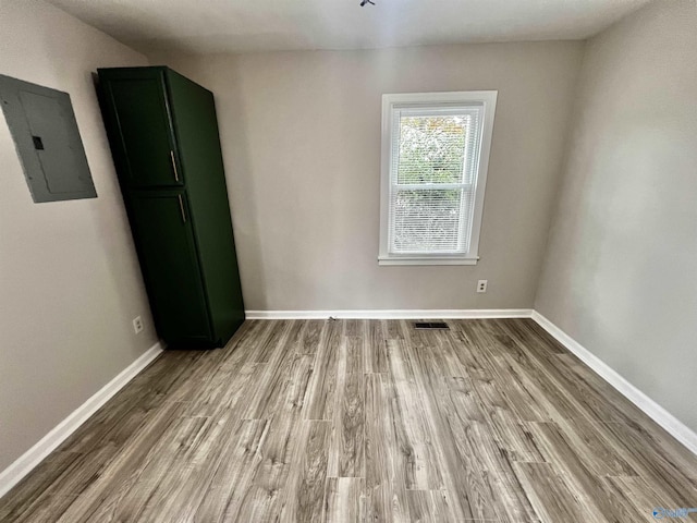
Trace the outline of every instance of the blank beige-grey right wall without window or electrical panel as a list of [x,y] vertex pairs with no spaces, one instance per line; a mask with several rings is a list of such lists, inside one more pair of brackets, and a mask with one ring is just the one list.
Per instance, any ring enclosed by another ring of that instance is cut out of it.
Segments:
[[536,308],[697,430],[697,4],[589,41]]

